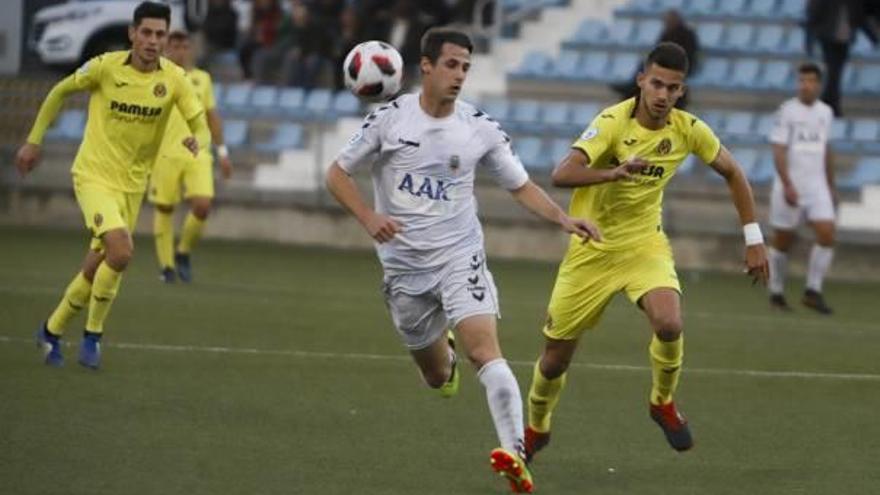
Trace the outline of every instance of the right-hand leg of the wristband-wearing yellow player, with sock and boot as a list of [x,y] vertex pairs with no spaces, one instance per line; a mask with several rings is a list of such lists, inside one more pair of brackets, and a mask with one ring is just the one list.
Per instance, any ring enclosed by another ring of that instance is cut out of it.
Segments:
[[653,289],[642,296],[639,306],[654,331],[649,347],[652,369],[651,418],[663,430],[666,441],[673,449],[688,450],[694,444],[690,428],[672,400],[684,357],[679,293],[671,288]]

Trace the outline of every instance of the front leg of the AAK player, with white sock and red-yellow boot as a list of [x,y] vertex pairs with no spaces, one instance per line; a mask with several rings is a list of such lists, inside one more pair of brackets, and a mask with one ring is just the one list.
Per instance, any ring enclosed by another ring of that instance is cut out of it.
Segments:
[[495,315],[467,317],[455,327],[461,349],[486,389],[489,412],[501,447],[489,456],[492,469],[510,482],[515,493],[531,493],[532,476],[523,448],[522,397],[516,376],[501,355]]

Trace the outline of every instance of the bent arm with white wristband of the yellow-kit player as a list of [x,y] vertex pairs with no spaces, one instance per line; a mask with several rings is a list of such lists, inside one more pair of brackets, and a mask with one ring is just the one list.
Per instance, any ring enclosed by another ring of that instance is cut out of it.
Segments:
[[770,276],[770,267],[767,263],[767,250],[764,247],[761,228],[755,219],[755,199],[749,181],[746,180],[733,155],[724,146],[721,146],[718,156],[709,165],[727,181],[733,205],[743,225],[746,239],[746,271],[754,277],[755,282],[766,285]]

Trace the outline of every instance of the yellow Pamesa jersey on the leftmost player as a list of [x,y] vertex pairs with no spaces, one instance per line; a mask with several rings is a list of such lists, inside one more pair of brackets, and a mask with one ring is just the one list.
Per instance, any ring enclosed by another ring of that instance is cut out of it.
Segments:
[[[158,70],[140,72],[127,50],[98,55],[62,83],[91,93],[74,178],[123,192],[146,190],[172,108],[187,120],[204,112],[181,67],[160,58]],[[36,123],[28,141],[39,143],[41,129]]]

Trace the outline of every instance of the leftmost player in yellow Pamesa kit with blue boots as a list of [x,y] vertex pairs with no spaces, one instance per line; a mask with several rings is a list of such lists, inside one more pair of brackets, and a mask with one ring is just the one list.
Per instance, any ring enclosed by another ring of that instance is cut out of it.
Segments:
[[[64,99],[89,92],[89,118],[72,175],[76,200],[93,238],[82,269],[37,332],[46,364],[63,364],[61,335],[71,318],[88,307],[79,362],[98,368],[104,320],[132,257],[131,231],[171,110],[180,111],[192,134],[206,132],[202,105],[183,69],[160,57],[170,17],[165,4],[138,5],[128,30],[131,50],[99,55],[56,84],[16,155],[16,167],[26,175],[38,163],[40,143]],[[199,150],[192,136],[180,146],[193,154]]]

